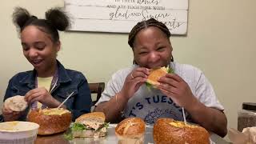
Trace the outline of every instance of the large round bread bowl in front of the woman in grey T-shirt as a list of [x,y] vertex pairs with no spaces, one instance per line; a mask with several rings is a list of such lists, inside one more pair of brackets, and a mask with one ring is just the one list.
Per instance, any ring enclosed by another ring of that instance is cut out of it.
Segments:
[[210,144],[206,129],[171,118],[159,118],[154,124],[153,136],[156,144]]

